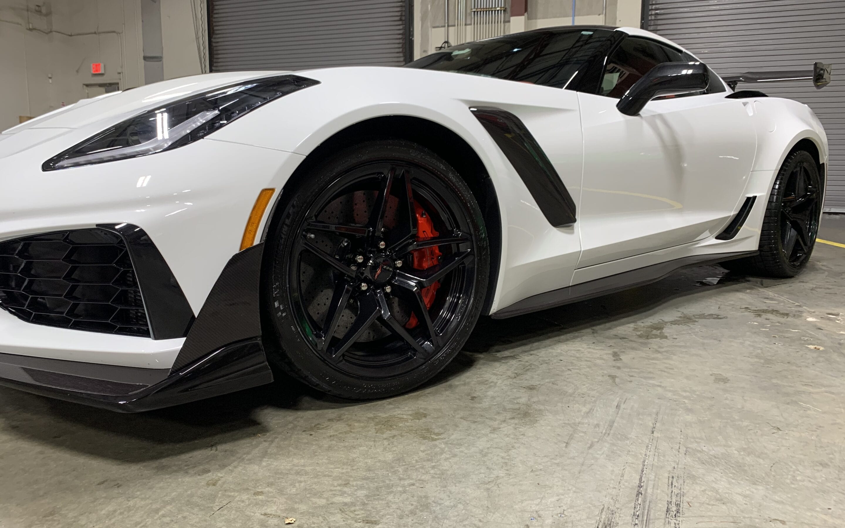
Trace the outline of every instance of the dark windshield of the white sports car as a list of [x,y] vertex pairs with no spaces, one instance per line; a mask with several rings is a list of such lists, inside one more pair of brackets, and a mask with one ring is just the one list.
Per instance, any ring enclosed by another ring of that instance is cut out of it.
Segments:
[[598,28],[527,31],[452,46],[405,67],[565,88],[612,34]]

